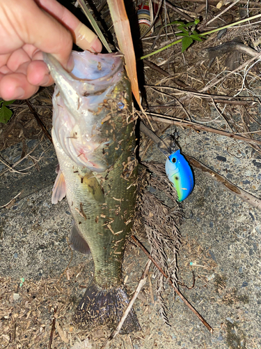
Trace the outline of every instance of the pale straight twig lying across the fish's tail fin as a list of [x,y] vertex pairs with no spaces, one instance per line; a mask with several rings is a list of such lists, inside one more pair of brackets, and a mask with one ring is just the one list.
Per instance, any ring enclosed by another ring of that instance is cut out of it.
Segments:
[[129,311],[132,309],[132,306],[136,300],[136,298],[139,295],[139,292],[141,292],[141,289],[143,288],[143,286],[145,285],[146,281],[147,281],[147,276],[148,276],[148,272],[150,270],[150,265],[151,265],[151,260],[148,260],[148,262],[145,265],[145,269],[144,272],[141,276],[141,280],[139,281],[139,285],[136,287],[136,290],[134,292],[134,295],[132,296],[131,301],[129,302],[129,305],[127,306],[124,314],[122,315],[122,318],[120,319],[120,322],[118,323],[118,326],[116,327],[116,329],[111,333],[111,335],[109,336],[109,338],[102,344],[100,349],[105,349],[107,345],[109,345],[111,343],[111,341],[113,341],[113,339],[117,336],[117,334],[120,332],[120,329],[123,325],[123,323],[125,322],[125,319],[127,318],[127,315],[129,314]]

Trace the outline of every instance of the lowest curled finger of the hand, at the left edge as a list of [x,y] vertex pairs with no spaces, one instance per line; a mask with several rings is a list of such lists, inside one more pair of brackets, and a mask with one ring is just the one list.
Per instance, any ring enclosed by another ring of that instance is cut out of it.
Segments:
[[38,86],[30,84],[26,75],[11,73],[3,75],[0,80],[0,97],[5,101],[12,99],[26,99],[38,91]]

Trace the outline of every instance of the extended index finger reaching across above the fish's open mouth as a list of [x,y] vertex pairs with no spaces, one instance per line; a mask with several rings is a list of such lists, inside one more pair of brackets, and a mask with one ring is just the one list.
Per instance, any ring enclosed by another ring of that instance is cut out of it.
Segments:
[[102,43],[96,34],[88,27],[81,23],[77,17],[60,3],[55,0],[36,0],[39,6],[44,8],[48,13],[55,16],[57,20],[61,21],[67,27],[76,43],[82,50],[89,50],[93,52],[102,51]]

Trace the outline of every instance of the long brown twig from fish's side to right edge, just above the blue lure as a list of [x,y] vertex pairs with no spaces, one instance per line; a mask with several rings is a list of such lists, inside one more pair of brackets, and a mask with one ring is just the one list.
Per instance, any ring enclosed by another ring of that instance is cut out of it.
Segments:
[[[250,144],[261,145],[260,140],[252,140],[251,138],[246,138],[246,137],[243,137],[241,135],[237,135],[235,133],[230,133],[230,132],[218,130],[217,128],[203,126],[201,124],[196,124],[196,122],[180,120],[180,119],[177,119],[175,117],[170,117],[169,115],[159,114],[159,113],[155,113],[155,112],[147,112],[147,114],[151,120],[156,121],[156,122],[164,122],[164,124],[176,125],[176,126],[180,126],[180,127],[189,127],[189,128],[192,128],[193,130],[200,130],[200,131],[206,131],[206,132],[211,132],[211,133],[217,133],[219,135],[224,135],[226,137],[229,137],[229,138],[232,138],[235,140],[242,140],[242,141],[250,143]],[[144,119],[143,116],[141,116],[141,118]]]

